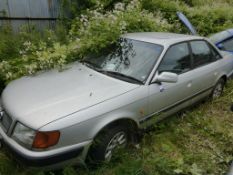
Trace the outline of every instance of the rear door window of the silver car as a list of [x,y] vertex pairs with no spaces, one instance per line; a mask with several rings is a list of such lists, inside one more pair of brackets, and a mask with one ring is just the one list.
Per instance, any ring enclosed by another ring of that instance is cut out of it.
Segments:
[[194,67],[199,67],[213,61],[213,53],[205,41],[192,41],[190,42],[190,45],[193,54]]

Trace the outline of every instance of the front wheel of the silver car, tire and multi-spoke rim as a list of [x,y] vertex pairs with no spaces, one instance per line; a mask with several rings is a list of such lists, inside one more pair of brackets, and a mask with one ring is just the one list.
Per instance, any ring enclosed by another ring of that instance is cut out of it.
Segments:
[[88,163],[108,163],[119,148],[125,148],[129,142],[128,130],[124,126],[114,126],[102,131],[94,140],[89,155]]

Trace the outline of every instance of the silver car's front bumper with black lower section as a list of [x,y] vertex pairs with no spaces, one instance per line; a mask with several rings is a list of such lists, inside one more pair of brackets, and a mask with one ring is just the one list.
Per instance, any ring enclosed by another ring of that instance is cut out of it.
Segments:
[[91,144],[91,141],[82,142],[76,145],[66,146],[62,148],[46,150],[46,151],[33,151],[19,145],[12,138],[8,137],[0,127],[0,139],[3,145],[10,150],[13,156],[27,166],[32,167],[60,167],[63,164],[83,163]]

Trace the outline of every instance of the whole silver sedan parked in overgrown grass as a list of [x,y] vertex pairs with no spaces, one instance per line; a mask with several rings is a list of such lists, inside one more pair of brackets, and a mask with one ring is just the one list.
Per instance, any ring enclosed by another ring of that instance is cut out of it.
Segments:
[[137,133],[191,104],[221,95],[232,55],[207,39],[132,33],[100,54],[11,82],[0,135],[32,166],[110,161]]

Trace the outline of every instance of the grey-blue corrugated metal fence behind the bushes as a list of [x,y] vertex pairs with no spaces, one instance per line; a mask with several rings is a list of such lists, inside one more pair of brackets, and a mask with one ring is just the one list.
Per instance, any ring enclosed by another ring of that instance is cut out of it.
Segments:
[[0,0],[0,26],[11,25],[14,31],[21,26],[39,30],[54,28],[60,13],[61,0]]

